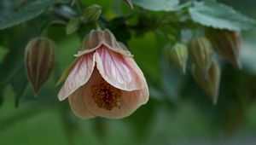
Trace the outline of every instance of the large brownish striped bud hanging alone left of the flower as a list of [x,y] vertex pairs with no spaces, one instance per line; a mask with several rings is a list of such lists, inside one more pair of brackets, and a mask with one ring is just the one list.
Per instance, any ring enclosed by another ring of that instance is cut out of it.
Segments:
[[49,78],[55,64],[55,43],[49,38],[33,38],[26,46],[26,74],[32,84],[35,96]]

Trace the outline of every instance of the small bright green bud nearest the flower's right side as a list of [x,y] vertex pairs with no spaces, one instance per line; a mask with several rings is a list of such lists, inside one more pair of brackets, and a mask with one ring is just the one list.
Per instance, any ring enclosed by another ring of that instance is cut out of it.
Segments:
[[166,48],[166,61],[171,65],[177,64],[178,67],[183,71],[183,74],[186,73],[186,66],[188,61],[188,49],[184,44],[175,44],[173,48]]

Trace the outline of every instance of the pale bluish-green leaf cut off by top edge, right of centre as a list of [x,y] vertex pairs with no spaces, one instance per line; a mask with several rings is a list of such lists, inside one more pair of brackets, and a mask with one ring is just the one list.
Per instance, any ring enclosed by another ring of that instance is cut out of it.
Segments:
[[179,9],[178,0],[134,0],[134,4],[153,11],[174,11]]

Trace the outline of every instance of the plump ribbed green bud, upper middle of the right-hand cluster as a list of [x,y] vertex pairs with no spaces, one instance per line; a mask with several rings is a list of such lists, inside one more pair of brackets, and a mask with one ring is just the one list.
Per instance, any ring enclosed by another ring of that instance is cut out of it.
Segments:
[[189,58],[202,73],[207,73],[212,63],[212,44],[207,38],[192,38],[188,43]]

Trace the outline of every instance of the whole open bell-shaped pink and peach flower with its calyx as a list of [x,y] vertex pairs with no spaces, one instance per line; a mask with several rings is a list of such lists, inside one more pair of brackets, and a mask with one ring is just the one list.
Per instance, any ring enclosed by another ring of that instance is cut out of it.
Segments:
[[148,84],[124,44],[108,30],[92,30],[58,98],[79,118],[121,119],[148,102]]

